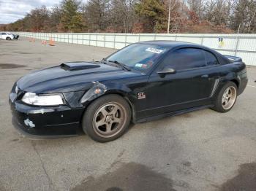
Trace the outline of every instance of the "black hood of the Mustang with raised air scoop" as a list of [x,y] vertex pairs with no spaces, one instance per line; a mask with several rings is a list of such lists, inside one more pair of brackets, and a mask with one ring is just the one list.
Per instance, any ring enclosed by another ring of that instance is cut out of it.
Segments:
[[72,62],[27,74],[18,80],[17,85],[26,92],[63,93],[88,90],[95,82],[138,75],[141,74],[106,64]]

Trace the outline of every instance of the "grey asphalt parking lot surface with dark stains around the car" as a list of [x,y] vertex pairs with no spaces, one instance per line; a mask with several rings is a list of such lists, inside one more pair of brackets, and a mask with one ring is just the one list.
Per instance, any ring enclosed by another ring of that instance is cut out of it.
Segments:
[[0,190],[255,190],[256,67],[230,112],[211,109],[131,125],[116,141],[32,141],[12,127],[8,95],[24,74],[115,50],[0,41]]

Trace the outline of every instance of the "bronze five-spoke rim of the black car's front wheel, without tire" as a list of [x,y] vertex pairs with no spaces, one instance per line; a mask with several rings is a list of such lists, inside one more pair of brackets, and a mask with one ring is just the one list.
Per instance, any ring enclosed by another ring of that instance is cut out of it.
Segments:
[[116,102],[104,104],[94,114],[93,128],[98,136],[110,138],[124,128],[127,113],[124,106]]

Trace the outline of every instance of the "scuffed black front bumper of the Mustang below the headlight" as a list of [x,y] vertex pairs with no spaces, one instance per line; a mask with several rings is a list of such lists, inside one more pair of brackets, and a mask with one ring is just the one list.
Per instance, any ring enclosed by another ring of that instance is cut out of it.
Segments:
[[15,93],[10,93],[12,124],[23,136],[48,139],[80,133],[83,108],[29,106],[16,98]]

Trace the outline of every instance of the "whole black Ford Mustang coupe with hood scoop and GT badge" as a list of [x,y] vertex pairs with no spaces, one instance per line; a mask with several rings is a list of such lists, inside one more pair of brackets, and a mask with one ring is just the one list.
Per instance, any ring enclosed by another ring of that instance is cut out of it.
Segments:
[[241,58],[197,44],[130,44],[100,62],[62,63],[12,87],[12,123],[26,136],[112,141],[130,122],[212,108],[229,111],[247,84]]

